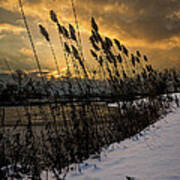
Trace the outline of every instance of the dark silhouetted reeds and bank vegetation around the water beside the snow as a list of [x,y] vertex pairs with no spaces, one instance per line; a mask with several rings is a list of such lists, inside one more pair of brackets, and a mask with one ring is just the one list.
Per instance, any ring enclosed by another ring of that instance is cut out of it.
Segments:
[[[83,54],[73,0],[76,28],[60,24],[50,11],[67,72],[66,78],[47,78],[21,0],[19,4],[40,76],[16,70],[11,82],[0,82],[0,179],[28,176],[39,180],[43,171],[50,171],[57,180],[65,179],[71,164],[92,154],[98,156],[103,147],[142,131],[170,112],[172,102],[179,106],[177,97],[169,94],[180,91],[179,74],[175,70],[158,72],[146,55],[133,54],[118,39],[104,37],[94,17],[89,58],[96,69],[91,71]],[[43,25],[39,28],[60,75],[50,34]],[[6,119],[6,106],[12,104],[20,105],[14,107],[18,114],[14,122]]]

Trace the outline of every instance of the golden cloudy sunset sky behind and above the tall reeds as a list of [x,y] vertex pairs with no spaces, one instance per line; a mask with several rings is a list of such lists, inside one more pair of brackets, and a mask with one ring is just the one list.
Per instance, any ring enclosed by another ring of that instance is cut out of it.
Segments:
[[[71,0],[22,0],[33,41],[43,69],[55,70],[48,43],[39,32],[39,24],[49,32],[60,71],[65,60],[55,24],[49,11],[54,10],[62,25],[74,24]],[[180,71],[180,0],[74,0],[81,31],[83,51],[88,63],[91,17],[104,36],[117,38],[132,52],[140,50],[152,65],[162,70]],[[18,0],[0,0],[0,73],[12,69],[33,71],[37,68],[20,13]]]

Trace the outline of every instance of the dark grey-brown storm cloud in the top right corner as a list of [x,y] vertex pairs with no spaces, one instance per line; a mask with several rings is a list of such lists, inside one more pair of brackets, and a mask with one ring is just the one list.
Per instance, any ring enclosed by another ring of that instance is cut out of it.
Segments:
[[[180,35],[180,18],[175,14],[180,10],[180,1],[151,0],[142,3],[134,1],[130,5],[134,15],[139,12],[132,28],[135,35],[150,41],[158,41]],[[135,11],[136,10],[136,11]],[[133,33],[130,31],[130,33]]]

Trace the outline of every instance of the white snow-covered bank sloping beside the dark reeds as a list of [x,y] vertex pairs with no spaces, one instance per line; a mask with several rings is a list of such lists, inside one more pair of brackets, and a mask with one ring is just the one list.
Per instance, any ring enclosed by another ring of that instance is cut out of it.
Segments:
[[137,137],[112,144],[67,180],[180,180],[180,108]]

